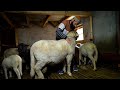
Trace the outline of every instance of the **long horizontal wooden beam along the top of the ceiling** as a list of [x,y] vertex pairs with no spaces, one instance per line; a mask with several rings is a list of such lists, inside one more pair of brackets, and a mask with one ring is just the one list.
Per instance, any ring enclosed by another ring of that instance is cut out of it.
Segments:
[[43,14],[43,15],[65,15],[65,16],[91,16],[90,11],[7,11],[10,13],[25,13],[25,14]]

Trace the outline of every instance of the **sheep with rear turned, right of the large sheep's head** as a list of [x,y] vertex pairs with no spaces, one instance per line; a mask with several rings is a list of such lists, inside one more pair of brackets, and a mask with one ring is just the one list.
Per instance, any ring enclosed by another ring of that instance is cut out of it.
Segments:
[[[84,60],[82,58],[84,56]],[[79,60],[86,64],[86,57],[89,57],[93,64],[93,70],[97,70],[96,63],[98,59],[98,50],[94,43],[87,42],[80,46],[79,48]]]

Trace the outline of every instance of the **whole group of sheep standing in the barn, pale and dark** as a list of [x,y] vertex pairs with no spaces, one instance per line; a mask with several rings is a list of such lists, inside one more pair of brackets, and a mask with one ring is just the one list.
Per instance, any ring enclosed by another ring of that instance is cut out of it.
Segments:
[[[2,61],[5,79],[9,79],[7,74],[9,68],[14,70],[18,79],[21,79],[24,64],[25,67],[29,67],[31,78],[35,76],[35,79],[44,79],[44,73],[47,71],[46,65],[58,64],[64,61],[65,58],[67,63],[64,63],[63,70],[64,72],[67,72],[69,76],[72,76],[70,67],[75,54],[75,38],[78,37],[78,33],[71,31],[67,36],[69,43],[67,42],[67,39],[58,41],[39,40],[27,49],[18,46],[18,48],[5,50],[4,59]],[[25,54],[25,52],[27,52],[27,54]],[[83,55],[85,56],[84,59],[82,58]],[[95,44],[88,42],[79,48],[79,60],[86,64],[86,57],[90,58],[94,66],[93,70],[96,70],[98,51]],[[9,75],[12,77],[10,70]]]

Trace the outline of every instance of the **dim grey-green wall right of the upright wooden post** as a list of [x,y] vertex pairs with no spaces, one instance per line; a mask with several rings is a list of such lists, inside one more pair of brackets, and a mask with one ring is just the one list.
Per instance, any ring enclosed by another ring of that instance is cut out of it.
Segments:
[[100,52],[117,52],[117,28],[115,11],[93,12],[94,43]]

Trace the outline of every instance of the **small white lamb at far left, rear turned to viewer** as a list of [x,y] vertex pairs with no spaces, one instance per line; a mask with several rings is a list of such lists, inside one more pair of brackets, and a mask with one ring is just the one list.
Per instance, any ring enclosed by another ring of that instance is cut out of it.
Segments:
[[[2,67],[5,74],[5,79],[8,79],[7,70],[13,69],[18,79],[22,76],[22,58],[19,55],[11,55],[4,58],[2,61]],[[9,71],[10,73],[10,71]]]

